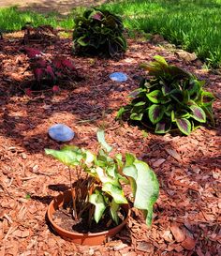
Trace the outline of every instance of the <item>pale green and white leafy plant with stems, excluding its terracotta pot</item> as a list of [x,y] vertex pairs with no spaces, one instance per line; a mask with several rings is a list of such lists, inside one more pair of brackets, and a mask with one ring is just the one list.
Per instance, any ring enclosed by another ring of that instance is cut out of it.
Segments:
[[[100,149],[97,154],[77,146],[64,146],[61,150],[46,149],[47,155],[62,161],[69,167],[70,186],[73,189],[72,168],[76,170],[77,181],[73,196],[73,218],[80,219],[89,213],[88,225],[108,219],[119,223],[122,203],[127,203],[122,184],[129,184],[134,197],[134,207],[143,210],[148,226],[152,223],[153,205],[158,198],[157,178],[147,163],[127,153],[111,157],[111,146],[106,143],[104,131],[97,132]],[[86,193],[81,193],[81,188]],[[73,193],[72,193],[73,194]]]

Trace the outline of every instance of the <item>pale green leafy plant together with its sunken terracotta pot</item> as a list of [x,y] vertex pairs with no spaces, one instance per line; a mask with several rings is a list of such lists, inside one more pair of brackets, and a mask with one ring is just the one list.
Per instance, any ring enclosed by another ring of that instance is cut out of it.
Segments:
[[[96,135],[101,147],[97,154],[69,145],[61,150],[45,149],[47,155],[69,167],[70,180],[70,189],[50,203],[47,216],[57,233],[83,245],[101,244],[124,227],[129,206],[123,184],[132,188],[133,205],[143,211],[148,226],[159,192],[155,173],[147,163],[130,153],[125,154],[125,159],[121,154],[111,154],[104,131],[99,130]],[[77,175],[74,186],[71,168]],[[72,219],[68,230],[54,221],[60,210]]]

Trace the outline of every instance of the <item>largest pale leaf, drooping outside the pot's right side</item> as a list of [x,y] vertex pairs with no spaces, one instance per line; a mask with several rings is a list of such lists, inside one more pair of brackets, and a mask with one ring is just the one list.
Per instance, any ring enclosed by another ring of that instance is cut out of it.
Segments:
[[[133,158],[130,158],[130,161]],[[152,223],[153,205],[159,194],[159,184],[155,173],[148,164],[135,159],[133,164],[125,166],[123,170],[126,176],[130,177],[134,190],[134,206],[138,209],[147,210],[146,223]]]

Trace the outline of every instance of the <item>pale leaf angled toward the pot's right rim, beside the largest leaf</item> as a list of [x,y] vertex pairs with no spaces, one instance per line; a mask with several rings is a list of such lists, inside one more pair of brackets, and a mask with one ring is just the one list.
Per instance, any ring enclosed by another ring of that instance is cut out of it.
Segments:
[[107,182],[103,185],[102,190],[110,194],[116,203],[127,203],[122,188]]

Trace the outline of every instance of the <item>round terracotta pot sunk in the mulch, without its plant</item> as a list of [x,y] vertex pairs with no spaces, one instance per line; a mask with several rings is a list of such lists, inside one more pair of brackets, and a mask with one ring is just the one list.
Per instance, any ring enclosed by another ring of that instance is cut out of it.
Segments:
[[47,211],[47,217],[49,221],[52,224],[52,229],[61,235],[64,239],[66,240],[71,240],[72,242],[76,244],[81,244],[81,245],[88,245],[88,246],[96,246],[100,245],[103,242],[107,240],[108,237],[113,236],[116,233],[119,233],[123,227],[125,226],[129,214],[130,214],[130,209],[128,204],[122,204],[121,207],[125,211],[125,219],[124,221],[114,227],[111,228],[111,230],[104,231],[104,232],[99,232],[99,233],[77,233],[77,232],[69,232],[58,226],[57,224],[54,223],[52,220],[52,215],[53,213],[61,207],[64,203],[68,203],[71,201],[71,190],[66,190],[65,192],[59,194],[57,197],[55,197],[52,202],[49,204],[49,208]]

